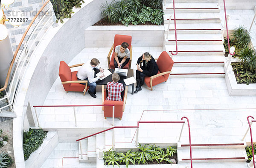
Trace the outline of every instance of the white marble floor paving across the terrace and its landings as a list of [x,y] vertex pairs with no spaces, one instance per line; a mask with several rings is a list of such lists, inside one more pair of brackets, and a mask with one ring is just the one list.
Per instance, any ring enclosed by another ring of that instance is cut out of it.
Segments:
[[[249,27],[253,10],[227,11],[231,14],[230,29],[242,24]],[[236,14],[235,15],[232,15]],[[256,25],[253,25],[253,37],[256,39]],[[253,41],[254,43],[254,41]],[[255,43],[254,43],[255,45]],[[107,67],[109,48],[84,48],[69,65],[98,58],[102,67]],[[149,52],[157,58],[163,48],[133,48],[132,68],[137,58]],[[174,67],[175,68],[175,67]],[[76,68],[73,68],[76,70]],[[134,70],[135,72],[135,70]],[[167,82],[153,87],[153,91],[144,85],[143,90],[131,95],[128,89],[127,103],[122,120],[115,119],[116,126],[137,125],[138,120],[180,120],[186,116],[190,120],[192,143],[233,143],[238,142],[246,131],[247,116],[256,116],[256,96],[229,96],[224,78],[169,78]],[[52,85],[44,105],[101,104],[101,91],[97,98],[88,93],[66,93],[59,78]],[[202,110],[203,109],[203,110]],[[216,110],[217,109],[217,110]],[[103,117],[101,107],[77,108],[79,128],[109,128],[112,118]],[[39,116],[42,128],[75,128],[73,108],[43,108]],[[181,125],[150,124],[142,125],[139,142],[150,141],[166,143],[177,139]],[[256,126],[252,126],[256,130]],[[116,130],[116,142],[132,142],[134,129]],[[182,142],[188,141],[187,128],[183,132]],[[256,137],[254,137],[255,139]],[[134,140],[133,140],[134,141]],[[250,141],[249,136],[246,141]],[[96,167],[95,163],[79,163],[78,143],[65,140],[60,142],[42,165],[46,167]]]

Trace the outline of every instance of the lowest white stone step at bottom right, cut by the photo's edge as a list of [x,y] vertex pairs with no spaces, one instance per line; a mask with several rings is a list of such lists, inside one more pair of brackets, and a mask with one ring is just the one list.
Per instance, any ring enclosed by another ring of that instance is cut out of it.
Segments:
[[[190,168],[190,162],[178,163],[179,168]],[[246,162],[193,162],[193,168],[247,168]]]

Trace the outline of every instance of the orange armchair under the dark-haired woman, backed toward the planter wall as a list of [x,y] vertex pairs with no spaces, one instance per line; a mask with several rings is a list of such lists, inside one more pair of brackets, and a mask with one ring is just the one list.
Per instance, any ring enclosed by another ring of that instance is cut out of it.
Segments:
[[[114,59],[115,59],[115,49],[117,45],[121,45],[122,42],[127,42],[130,50],[130,61],[123,67],[124,69],[131,68],[131,56],[132,56],[132,46],[131,46],[131,36],[116,34],[114,39],[114,44],[112,45],[109,53],[108,53],[108,68],[115,69]],[[113,53],[112,53],[113,50]],[[110,59],[110,55],[112,53],[112,57]]]

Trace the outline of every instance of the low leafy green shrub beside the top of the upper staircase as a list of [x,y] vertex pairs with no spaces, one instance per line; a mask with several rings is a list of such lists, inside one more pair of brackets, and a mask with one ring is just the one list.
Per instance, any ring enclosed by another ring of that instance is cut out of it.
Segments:
[[137,25],[139,23],[145,24],[145,22],[151,22],[156,25],[161,25],[163,23],[163,11],[162,9],[152,9],[143,5],[141,12],[133,11],[128,17],[124,17],[122,24],[128,26],[130,23],[132,25]]

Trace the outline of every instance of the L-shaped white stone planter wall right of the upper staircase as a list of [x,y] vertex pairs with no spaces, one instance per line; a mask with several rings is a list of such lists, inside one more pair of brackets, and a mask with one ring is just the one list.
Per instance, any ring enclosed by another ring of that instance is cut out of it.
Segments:
[[[226,63],[225,63],[226,66]],[[225,69],[225,68],[224,68]],[[233,72],[231,64],[228,65],[227,70],[225,70],[225,81],[227,84],[227,89],[229,95],[256,95],[256,84],[238,84],[236,82],[236,76]]]

